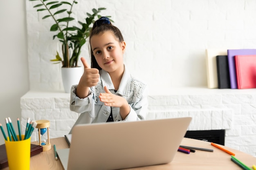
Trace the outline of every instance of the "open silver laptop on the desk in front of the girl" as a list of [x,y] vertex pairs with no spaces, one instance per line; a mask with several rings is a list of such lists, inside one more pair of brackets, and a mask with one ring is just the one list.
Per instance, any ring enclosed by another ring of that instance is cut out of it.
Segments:
[[70,148],[57,150],[65,170],[117,170],[170,163],[191,117],[76,125]]

